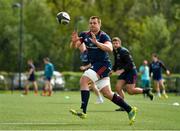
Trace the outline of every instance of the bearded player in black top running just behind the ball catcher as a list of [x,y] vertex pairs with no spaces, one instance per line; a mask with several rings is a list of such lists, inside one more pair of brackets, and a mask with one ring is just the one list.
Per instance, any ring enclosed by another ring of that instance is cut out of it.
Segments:
[[[121,40],[118,37],[114,37],[112,43],[114,48],[114,66],[112,71],[119,75],[115,87],[116,92],[124,98],[123,87],[125,86],[130,95],[147,94],[153,100],[153,94],[150,89],[136,87],[137,70],[129,51],[125,47],[122,47]],[[121,110],[123,109],[117,109],[116,111]]]

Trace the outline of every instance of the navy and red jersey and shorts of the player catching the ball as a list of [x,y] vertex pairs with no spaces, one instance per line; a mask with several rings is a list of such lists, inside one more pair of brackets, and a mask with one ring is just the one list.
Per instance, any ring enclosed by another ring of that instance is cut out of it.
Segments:
[[[109,54],[100,48],[98,48],[94,43],[91,42],[90,31],[82,32],[80,35],[81,43],[84,43],[88,52],[88,60],[92,64],[91,69],[94,70],[100,78],[107,77],[111,71],[111,62],[109,60]],[[99,31],[96,35],[98,42],[104,44],[106,41],[110,41],[110,37],[103,31]]]

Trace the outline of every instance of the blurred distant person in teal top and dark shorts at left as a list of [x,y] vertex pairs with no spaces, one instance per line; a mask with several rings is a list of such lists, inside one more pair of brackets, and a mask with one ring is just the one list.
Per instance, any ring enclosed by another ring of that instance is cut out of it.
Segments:
[[[44,80],[45,80],[45,86],[42,92],[42,96],[51,96],[52,95],[52,85],[51,85],[51,79],[54,72],[54,65],[50,62],[50,59],[48,57],[43,59],[45,64],[44,69]],[[48,94],[46,94],[48,92]]]

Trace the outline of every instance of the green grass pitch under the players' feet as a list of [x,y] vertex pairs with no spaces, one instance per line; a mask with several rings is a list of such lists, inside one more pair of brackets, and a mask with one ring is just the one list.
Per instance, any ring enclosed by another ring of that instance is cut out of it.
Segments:
[[108,100],[96,105],[95,100],[91,93],[88,117],[80,119],[69,113],[71,108],[79,109],[80,92],[56,92],[52,97],[0,92],[0,130],[180,130],[180,106],[172,105],[180,103],[180,96],[150,101],[126,94],[126,100],[138,108],[132,126],[125,112],[114,111],[116,105]]

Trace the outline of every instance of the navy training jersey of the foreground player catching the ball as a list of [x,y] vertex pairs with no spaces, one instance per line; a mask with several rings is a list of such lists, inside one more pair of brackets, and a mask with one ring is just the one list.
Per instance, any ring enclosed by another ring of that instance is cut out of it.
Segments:
[[[88,59],[91,64],[96,62],[109,61],[108,53],[99,49],[94,43],[91,42],[90,38],[92,38],[92,36],[89,31],[82,32],[79,37],[81,38],[81,43],[85,43],[86,45],[88,51]],[[100,43],[111,41],[110,37],[103,31],[100,31],[96,35],[96,39]]]

